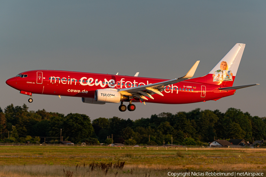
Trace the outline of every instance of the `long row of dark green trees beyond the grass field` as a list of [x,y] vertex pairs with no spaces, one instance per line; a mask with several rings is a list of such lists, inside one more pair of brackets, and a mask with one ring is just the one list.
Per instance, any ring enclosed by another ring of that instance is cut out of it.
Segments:
[[[62,129],[62,130],[61,130]],[[61,133],[61,134],[60,134]],[[85,114],[66,116],[46,110],[28,111],[27,105],[0,108],[0,142],[59,143],[63,140],[88,144],[186,144],[202,145],[213,139],[266,138],[266,118],[239,109],[153,114],[135,121],[119,117],[97,118]]]

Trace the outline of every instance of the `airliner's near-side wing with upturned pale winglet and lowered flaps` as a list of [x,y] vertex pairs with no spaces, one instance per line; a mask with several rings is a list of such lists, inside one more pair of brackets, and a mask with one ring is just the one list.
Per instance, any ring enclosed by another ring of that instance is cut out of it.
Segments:
[[181,82],[181,81],[184,81],[186,79],[190,79],[191,77],[193,77],[199,62],[200,61],[197,61],[192,66],[192,68],[189,70],[189,72],[186,73],[186,75],[183,77],[179,77],[177,79],[171,79],[171,80],[167,80],[167,81],[163,81],[163,82],[158,82],[158,83],[154,83],[154,84],[149,84],[149,85],[124,88],[124,89],[120,89],[119,92],[121,92],[121,94],[123,94],[123,95],[126,95],[124,93],[129,93],[129,94],[131,94],[137,98],[142,98],[144,100],[147,100],[147,98],[145,98],[145,96],[153,99],[153,97],[151,95],[153,95],[155,93],[163,96],[163,94],[161,92],[164,90],[165,86],[175,84],[177,82]]

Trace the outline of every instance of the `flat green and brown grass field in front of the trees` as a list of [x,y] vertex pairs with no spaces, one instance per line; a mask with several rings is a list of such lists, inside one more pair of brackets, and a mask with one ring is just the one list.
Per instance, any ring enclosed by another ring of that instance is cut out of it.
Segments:
[[[125,162],[123,167],[110,163]],[[109,166],[108,166],[109,164]],[[94,166],[94,167],[92,167]],[[106,171],[107,170],[107,171]],[[73,172],[73,173],[72,173]],[[0,146],[0,177],[168,176],[168,172],[266,174],[266,149]]]

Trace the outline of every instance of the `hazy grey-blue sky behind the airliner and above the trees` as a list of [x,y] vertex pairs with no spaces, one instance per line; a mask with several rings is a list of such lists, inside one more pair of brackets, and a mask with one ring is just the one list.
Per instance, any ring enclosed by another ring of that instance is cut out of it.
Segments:
[[[266,116],[265,1],[0,1],[0,106],[84,113],[92,119],[133,120],[195,108],[241,109]],[[34,102],[5,84],[20,72],[55,69],[173,79],[200,64],[208,72],[236,44],[246,43],[234,86],[218,101],[184,105],[137,103],[124,113],[119,104],[93,105],[81,98],[33,95]]]

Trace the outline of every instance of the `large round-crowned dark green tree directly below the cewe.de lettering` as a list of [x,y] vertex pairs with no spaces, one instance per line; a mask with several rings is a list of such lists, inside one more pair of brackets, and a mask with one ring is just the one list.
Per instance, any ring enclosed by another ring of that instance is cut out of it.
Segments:
[[89,116],[85,114],[68,114],[64,117],[62,133],[69,141],[77,143],[93,134],[93,126]]

